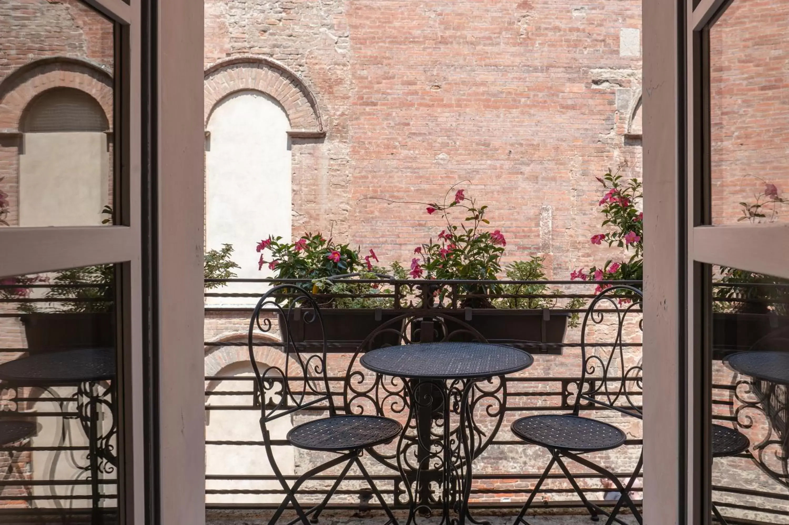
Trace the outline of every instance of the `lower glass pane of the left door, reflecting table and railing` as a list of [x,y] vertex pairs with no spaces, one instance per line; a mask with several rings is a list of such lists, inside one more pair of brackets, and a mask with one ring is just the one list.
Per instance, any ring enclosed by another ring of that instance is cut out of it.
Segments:
[[117,523],[115,304],[111,264],[0,278],[0,512]]

